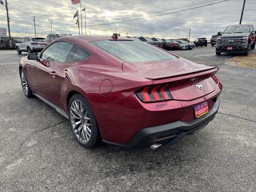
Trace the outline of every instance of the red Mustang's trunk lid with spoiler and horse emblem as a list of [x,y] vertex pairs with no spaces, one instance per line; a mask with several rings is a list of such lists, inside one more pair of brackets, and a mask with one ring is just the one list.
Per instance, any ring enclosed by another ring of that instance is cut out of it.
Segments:
[[122,69],[126,73],[152,80],[153,84],[170,84],[169,91],[174,100],[193,100],[216,89],[212,75],[217,72],[217,66],[197,64],[184,58],[145,63],[124,62]]

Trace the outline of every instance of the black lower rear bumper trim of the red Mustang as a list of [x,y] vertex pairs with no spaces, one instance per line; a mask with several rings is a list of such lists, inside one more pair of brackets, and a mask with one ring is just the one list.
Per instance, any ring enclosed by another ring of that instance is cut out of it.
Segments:
[[200,118],[188,122],[177,121],[144,128],[138,131],[127,144],[103,141],[126,148],[146,148],[154,143],[175,144],[185,135],[194,134],[204,128],[216,116],[219,106],[220,99],[216,101],[213,108],[207,114]]

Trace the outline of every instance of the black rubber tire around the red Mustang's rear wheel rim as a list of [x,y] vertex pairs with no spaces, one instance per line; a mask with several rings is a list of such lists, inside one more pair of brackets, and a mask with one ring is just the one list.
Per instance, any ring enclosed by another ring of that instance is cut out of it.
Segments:
[[[72,122],[71,122],[71,118],[70,118],[70,108],[71,108],[71,104],[74,100],[79,100],[80,102],[82,102],[82,104],[85,106],[86,111],[88,112],[89,118],[90,118],[90,124],[91,124],[91,135],[90,135],[90,140],[87,143],[83,143],[81,142],[77,136],[76,133],[74,132],[73,126],[72,126]],[[74,94],[68,104],[68,119],[70,122],[70,128],[74,134],[74,137],[76,138],[77,142],[83,146],[84,148],[92,148],[95,146],[98,146],[101,143],[101,136],[100,136],[100,131],[98,128],[98,124],[96,121],[96,118],[92,112],[92,109],[90,107],[90,105],[88,104],[88,102],[84,99],[83,96],[81,96],[80,94]]]

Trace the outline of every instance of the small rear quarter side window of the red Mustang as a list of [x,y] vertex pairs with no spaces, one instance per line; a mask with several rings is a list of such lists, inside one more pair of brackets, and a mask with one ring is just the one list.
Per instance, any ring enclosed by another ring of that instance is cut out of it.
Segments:
[[78,62],[86,60],[88,57],[90,57],[91,54],[86,52],[85,50],[79,48],[78,46],[75,46],[72,48],[70,53],[68,54],[68,57],[66,59],[66,63],[69,62]]

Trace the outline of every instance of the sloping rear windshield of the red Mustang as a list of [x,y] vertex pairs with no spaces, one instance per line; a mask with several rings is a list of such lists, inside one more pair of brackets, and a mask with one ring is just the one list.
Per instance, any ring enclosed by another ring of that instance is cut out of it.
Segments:
[[90,44],[100,48],[108,54],[126,62],[151,62],[175,59],[169,54],[150,44],[139,41],[93,41]]

